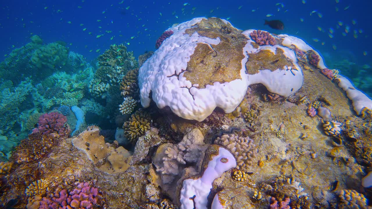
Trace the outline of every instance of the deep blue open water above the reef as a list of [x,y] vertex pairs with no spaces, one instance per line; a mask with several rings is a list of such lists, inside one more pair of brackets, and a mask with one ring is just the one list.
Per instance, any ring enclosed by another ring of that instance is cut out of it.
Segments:
[[[156,39],[174,23],[215,16],[229,18],[234,26],[243,30],[254,28],[298,36],[331,60],[347,58],[360,66],[371,65],[372,18],[368,13],[372,2],[365,0],[228,3],[221,0],[38,0],[3,1],[1,4],[1,61],[13,48],[29,42],[32,35],[39,35],[45,43],[64,41],[71,51],[88,60],[115,43],[130,44],[128,49],[138,57],[144,51],[154,50]],[[272,16],[266,17],[268,14]],[[282,20],[285,29],[279,31],[263,26],[264,19]],[[102,36],[96,38],[97,35]],[[100,51],[96,52],[97,49]]]

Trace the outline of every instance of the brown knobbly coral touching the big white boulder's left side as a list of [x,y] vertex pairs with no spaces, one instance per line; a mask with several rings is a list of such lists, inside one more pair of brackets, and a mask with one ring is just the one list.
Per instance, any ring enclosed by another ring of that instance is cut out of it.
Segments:
[[138,87],[138,68],[128,71],[120,83],[122,96],[131,96],[137,98],[140,93]]

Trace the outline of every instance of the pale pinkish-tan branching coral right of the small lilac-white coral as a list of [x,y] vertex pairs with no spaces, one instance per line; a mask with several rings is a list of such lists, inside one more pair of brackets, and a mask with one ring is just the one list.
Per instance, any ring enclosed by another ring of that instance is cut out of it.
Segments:
[[240,170],[248,171],[250,166],[254,164],[257,149],[253,144],[253,140],[247,137],[241,137],[236,134],[222,135],[218,137],[215,144],[227,148],[237,161],[237,168]]

